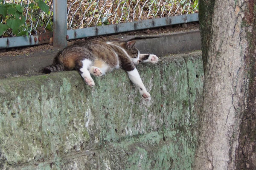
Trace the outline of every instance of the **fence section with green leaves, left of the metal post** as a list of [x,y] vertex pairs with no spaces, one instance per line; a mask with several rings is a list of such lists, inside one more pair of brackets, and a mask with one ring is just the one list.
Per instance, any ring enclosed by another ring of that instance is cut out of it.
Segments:
[[52,31],[51,0],[0,0],[0,35],[13,37]]

